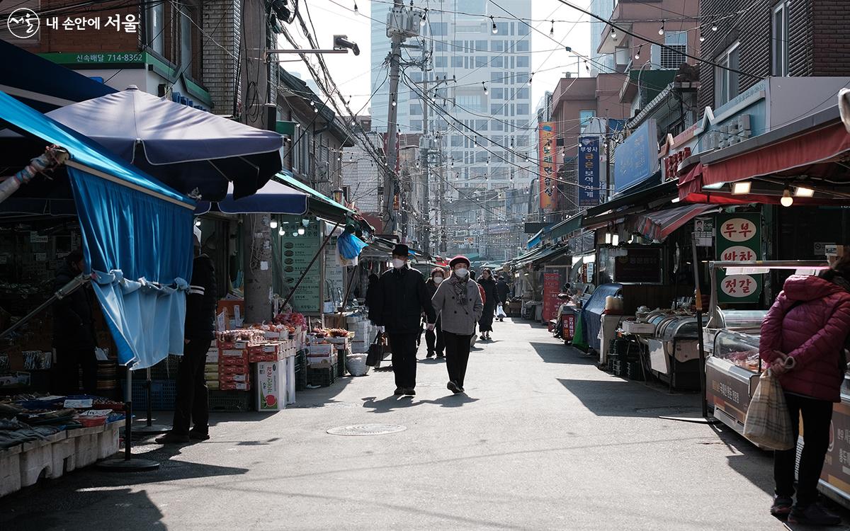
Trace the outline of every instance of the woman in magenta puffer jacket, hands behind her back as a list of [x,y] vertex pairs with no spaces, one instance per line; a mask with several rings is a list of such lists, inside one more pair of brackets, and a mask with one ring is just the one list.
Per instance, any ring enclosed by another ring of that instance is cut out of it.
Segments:
[[[806,433],[796,504],[796,448],[774,452],[776,495],[770,512],[792,523],[836,525],[841,518],[818,503],[818,480],[830,443],[832,404],[841,400],[850,334],[850,255],[820,276],[791,276],[762,323],[759,346],[785,391],[794,428]],[[793,359],[787,360],[788,358]],[[790,367],[790,368],[789,368]]]

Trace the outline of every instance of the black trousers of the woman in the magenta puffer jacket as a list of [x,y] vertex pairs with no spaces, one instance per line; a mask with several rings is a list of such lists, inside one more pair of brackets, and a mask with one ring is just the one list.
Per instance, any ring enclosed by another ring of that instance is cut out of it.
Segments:
[[[799,419],[802,413],[805,440],[800,455],[796,503],[798,506],[805,507],[818,500],[818,480],[824,468],[826,450],[830,446],[832,403],[791,393],[785,393],[785,403],[788,404],[788,413],[791,414],[795,443],[800,434]],[[794,495],[795,465],[796,444],[794,449],[774,452],[776,495],[788,497]]]

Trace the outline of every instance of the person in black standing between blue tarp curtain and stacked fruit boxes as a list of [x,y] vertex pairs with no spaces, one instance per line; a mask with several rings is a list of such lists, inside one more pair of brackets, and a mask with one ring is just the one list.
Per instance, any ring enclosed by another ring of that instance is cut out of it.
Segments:
[[[209,436],[209,393],[204,379],[207,351],[215,338],[216,297],[215,267],[201,254],[201,229],[195,227],[195,260],[192,280],[186,295],[183,359],[177,370],[177,397],[174,399],[174,423],[170,432],[157,443],[188,443]],[[190,429],[190,425],[195,426]]]

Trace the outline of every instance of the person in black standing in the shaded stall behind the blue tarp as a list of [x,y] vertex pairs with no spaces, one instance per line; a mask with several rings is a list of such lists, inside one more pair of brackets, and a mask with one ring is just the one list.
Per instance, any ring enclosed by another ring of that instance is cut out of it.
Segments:
[[[54,291],[59,291],[59,288],[82,274],[84,268],[82,251],[71,251],[56,271]],[[80,392],[82,367],[82,389],[87,394],[97,394],[98,362],[94,356],[97,341],[89,297],[88,287],[82,287],[54,304],[53,346],[56,349],[59,377],[57,393]]]

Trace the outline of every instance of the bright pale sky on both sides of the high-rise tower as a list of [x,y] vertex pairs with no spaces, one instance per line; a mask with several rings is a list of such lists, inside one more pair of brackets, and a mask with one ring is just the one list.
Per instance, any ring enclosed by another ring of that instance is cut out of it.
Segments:
[[[529,0],[532,2],[532,17],[536,20],[531,24],[540,32],[532,32],[531,50],[532,65],[535,71],[534,82],[532,82],[531,105],[537,102],[547,90],[552,91],[558,84],[558,79],[564,75],[564,71],[571,71],[575,76],[576,58],[563,49],[569,46],[582,55],[590,53],[590,27],[589,17],[581,14],[575,9],[568,8],[558,0]],[[405,5],[409,2],[405,0]],[[575,0],[575,4],[587,8],[592,0]],[[360,114],[368,112],[368,99],[370,88],[370,49],[371,31],[369,19],[369,0],[358,0],[357,7],[360,14],[354,14],[354,0],[301,0],[299,8],[302,14],[310,14],[315,31],[311,32],[318,37],[320,48],[331,48],[331,40],[335,34],[348,35],[348,39],[360,46],[360,56],[354,54],[325,55],[326,64],[331,71],[331,76],[337,82],[346,98],[353,96],[352,109],[364,110]],[[422,4],[418,0],[416,5]],[[555,41],[549,38],[552,28],[550,20],[555,20]],[[542,20],[546,20],[545,22]],[[563,20],[563,21],[562,21]],[[574,24],[576,20],[580,20]],[[308,20],[309,24],[309,20]],[[289,30],[297,39],[302,48],[308,48],[306,38],[303,37],[297,21],[289,26]],[[288,44],[280,37],[280,47],[289,48]],[[547,50],[556,50],[550,53]],[[293,57],[293,56],[290,56]],[[297,57],[297,56],[295,56]],[[284,59],[285,56],[280,56]],[[303,79],[310,79],[307,67],[301,62],[280,63],[288,71],[301,74]],[[581,64],[581,76],[586,76],[587,71]]]

